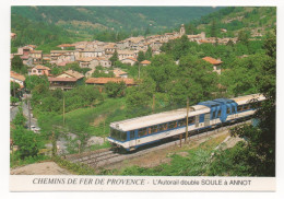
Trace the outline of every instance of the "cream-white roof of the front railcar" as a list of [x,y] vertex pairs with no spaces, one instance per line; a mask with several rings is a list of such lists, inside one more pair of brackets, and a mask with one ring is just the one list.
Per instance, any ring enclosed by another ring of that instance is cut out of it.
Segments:
[[[190,106],[189,117],[209,113],[209,112],[210,108],[203,105]],[[115,121],[110,124],[110,127],[122,131],[129,131],[129,130],[151,127],[154,125],[164,124],[168,121],[174,121],[186,117],[187,117],[187,108],[179,108],[175,110],[163,112],[159,114],[152,114],[149,116],[127,119],[122,121]]]

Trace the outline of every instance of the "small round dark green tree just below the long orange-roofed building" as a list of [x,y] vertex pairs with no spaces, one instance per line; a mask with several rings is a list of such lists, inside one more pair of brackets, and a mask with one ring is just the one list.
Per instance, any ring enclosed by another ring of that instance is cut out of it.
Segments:
[[125,96],[126,87],[127,87],[127,85],[123,81],[121,81],[120,83],[107,82],[105,84],[105,90],[109,97]]

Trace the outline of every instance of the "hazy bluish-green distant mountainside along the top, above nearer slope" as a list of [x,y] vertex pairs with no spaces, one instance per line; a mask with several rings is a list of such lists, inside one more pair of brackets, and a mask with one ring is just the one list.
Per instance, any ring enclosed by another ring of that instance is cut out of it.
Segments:
[[149,24],[156,33],[215,10],[211,7],[12,7],[11,11],[32,21],[88,33],[94,30],[145,31]]

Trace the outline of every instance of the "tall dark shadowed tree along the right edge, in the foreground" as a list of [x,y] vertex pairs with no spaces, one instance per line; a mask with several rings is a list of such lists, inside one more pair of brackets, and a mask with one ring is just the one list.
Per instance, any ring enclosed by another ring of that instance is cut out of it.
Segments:
[[275,176],[275,79],[276,79],[276,36],[268,36],[264,49],[269,59],[261,66],[256,78],[256,86],[265,96],[265,101],[253,115],[259,120],[257,126],[244,125],[233,129],[233,136],[246,138],[247,157],[242,161],[251,167],[255,176]]

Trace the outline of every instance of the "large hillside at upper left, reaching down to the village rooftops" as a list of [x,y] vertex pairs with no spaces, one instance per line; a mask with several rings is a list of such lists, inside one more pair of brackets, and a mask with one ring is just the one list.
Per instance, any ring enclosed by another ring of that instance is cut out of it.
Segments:
[[[12,51],[26,44],[47,52],[62,43],[118,42],[130,36],[171,32],[206,15],[211,7],[12,7]],[[40,28],[38,28],[40,27]]]

